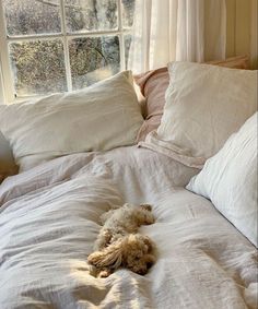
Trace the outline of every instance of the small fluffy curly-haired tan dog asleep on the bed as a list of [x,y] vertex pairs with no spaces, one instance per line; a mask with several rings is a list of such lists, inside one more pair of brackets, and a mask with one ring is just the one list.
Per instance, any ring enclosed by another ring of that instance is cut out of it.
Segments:
[[119,266],[144,275],[155,262],[152,240],[137,234],[141,225],[153,224],[151,206],[125,204],[101,216],[103,227],[94,245],[94,252],[87,258],[93,265],[91,274],[107,277]]

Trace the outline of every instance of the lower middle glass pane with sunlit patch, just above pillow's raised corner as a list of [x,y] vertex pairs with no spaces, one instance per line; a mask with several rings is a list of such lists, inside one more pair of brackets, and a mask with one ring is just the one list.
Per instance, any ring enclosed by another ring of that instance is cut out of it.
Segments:
[[82,88],[120,71],[118,36],[69,41],[73,88]]

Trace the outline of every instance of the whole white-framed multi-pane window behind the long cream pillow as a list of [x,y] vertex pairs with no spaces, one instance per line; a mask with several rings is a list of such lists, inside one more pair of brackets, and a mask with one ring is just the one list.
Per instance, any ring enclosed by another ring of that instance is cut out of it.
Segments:
[[7,99],[78,90],[126,69],[134,0],[0,0]]

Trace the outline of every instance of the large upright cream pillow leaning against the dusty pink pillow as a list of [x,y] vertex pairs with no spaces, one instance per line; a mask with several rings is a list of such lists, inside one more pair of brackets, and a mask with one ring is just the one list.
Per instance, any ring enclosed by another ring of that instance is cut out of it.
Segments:
[[257,110],[257,71],[174,62],[157,131],[140,145],[202,168]]

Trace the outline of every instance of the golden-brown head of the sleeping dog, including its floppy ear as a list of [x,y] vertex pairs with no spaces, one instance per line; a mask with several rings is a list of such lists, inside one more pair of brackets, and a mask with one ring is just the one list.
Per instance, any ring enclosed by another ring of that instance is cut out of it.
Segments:
[[87,261],[97,269],[108,268],[114,271],[122,265],[144,275],[155,262],[152,249],[153,243],[149,237],[131,234],[113,242],[103,251],[93,252]]

